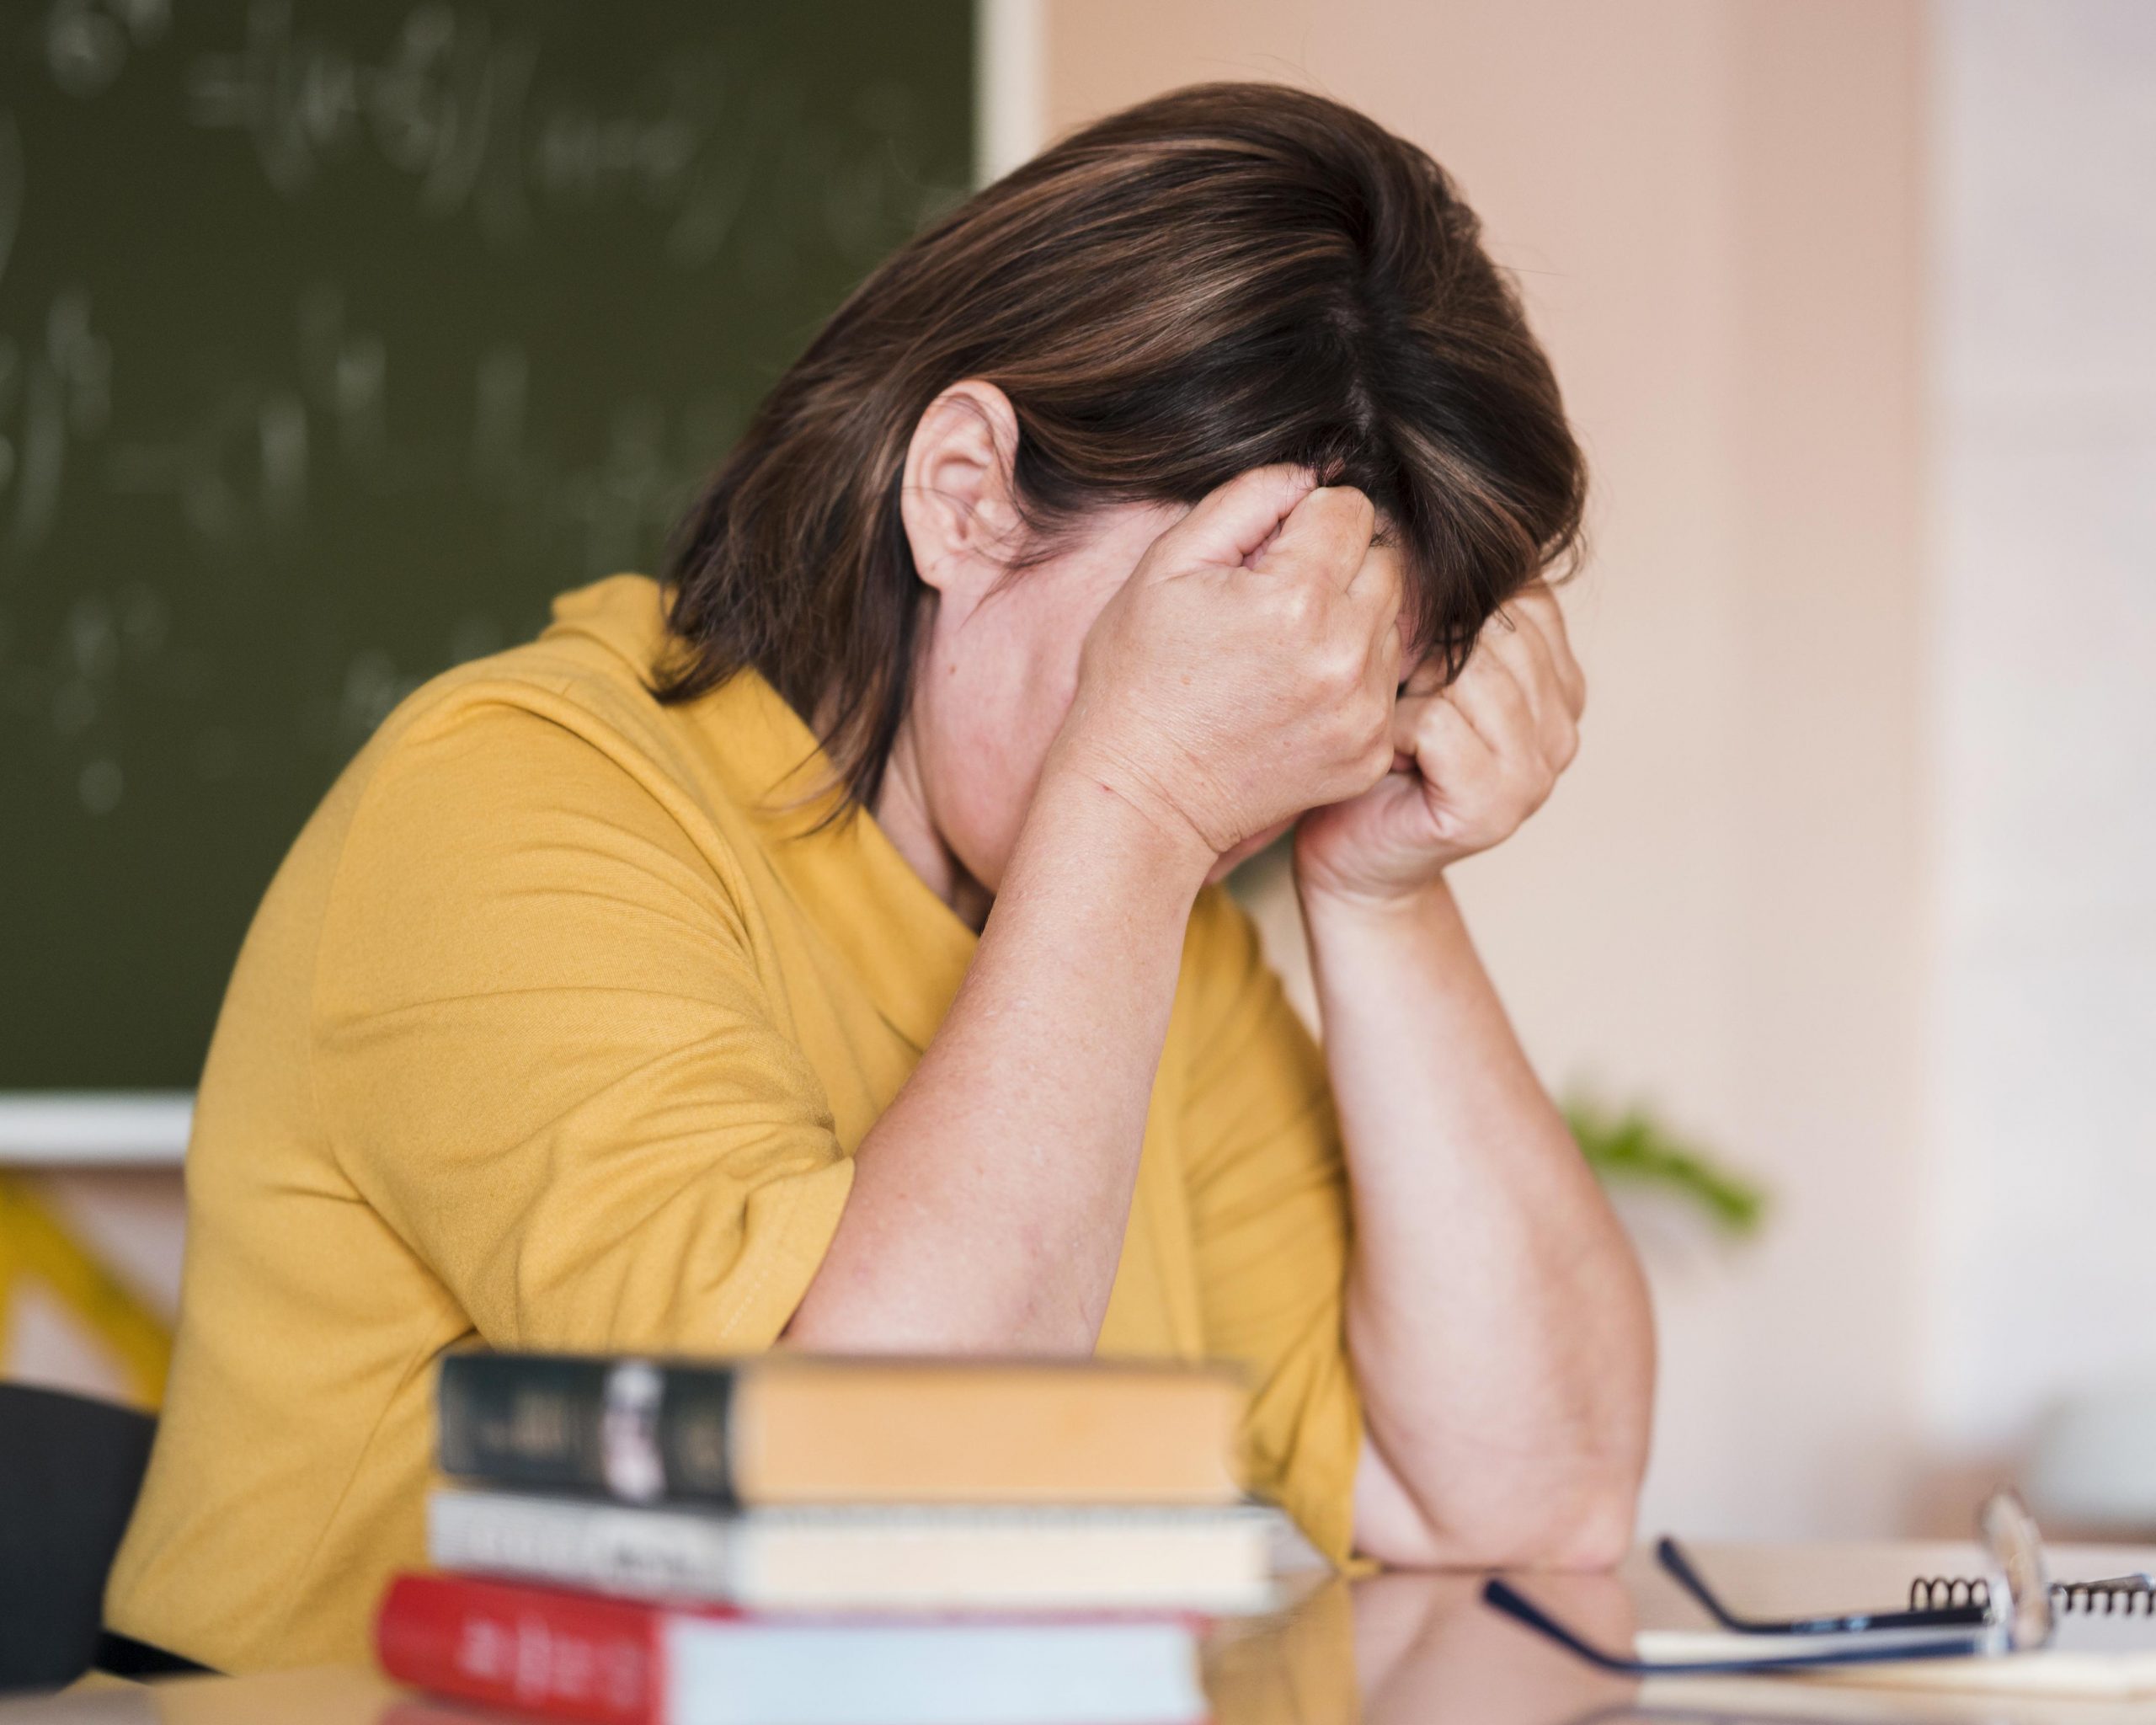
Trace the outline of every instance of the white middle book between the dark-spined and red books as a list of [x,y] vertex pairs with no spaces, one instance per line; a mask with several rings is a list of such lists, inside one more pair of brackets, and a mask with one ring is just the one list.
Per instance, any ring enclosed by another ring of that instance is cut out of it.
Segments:
[[444,1570],[755,1611],[1266,1611],[1283,1516],[1257,1505],[632,1507],[436,1490]]

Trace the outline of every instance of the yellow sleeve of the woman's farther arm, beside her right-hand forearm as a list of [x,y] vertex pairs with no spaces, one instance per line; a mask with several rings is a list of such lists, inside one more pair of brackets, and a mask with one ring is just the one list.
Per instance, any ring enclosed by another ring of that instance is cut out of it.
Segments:
[[1343,1330],[1350,1212],[1332,1089],[1257,929],[1220,891],[1192,914],[1190,966],[1184,1141],[1205,1341],[1253,1374],[1253,1488],[1345,1563],[1363,1404]]

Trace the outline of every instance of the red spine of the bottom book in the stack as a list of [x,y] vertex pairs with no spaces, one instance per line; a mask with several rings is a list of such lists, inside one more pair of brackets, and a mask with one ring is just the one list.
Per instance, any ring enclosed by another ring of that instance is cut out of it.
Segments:
[[666,1725],[660,1619],[649,1606],[457,1576],[397,1576],[375,1654],[429,1695],[586,1725]]

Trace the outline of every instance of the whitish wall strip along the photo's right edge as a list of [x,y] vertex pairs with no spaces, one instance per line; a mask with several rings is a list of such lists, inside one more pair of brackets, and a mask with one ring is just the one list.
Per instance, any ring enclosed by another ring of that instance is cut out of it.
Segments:
[[1930,1430],[2156,1527],[2156,6],[1934,22]]

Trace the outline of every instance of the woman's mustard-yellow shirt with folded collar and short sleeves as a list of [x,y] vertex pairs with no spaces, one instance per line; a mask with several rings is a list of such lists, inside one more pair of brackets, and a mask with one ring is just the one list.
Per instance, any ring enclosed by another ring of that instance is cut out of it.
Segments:
[[[270,886],[188,1147],[179,1346],[112,1628],[358,1658],[425,1561],[448,1348],[772,1346],[972,932],[755,675],[662,707],[617,576],[384,722]],[[1345,1557],[1360,1406],[1324,1065],[1201,895],[1102,1354],[1248,1361],[1257,1490]]]

